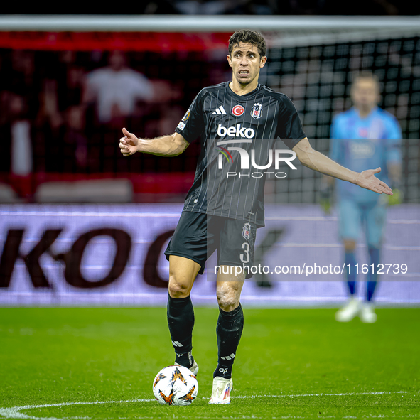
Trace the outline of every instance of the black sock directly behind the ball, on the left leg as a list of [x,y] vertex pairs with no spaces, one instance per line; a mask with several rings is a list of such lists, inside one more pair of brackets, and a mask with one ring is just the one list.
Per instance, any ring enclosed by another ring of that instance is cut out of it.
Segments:
[[191,367],[194,359],[193,349],[194,308],[190,296],[186,298],[168,297],[168,326],[172,345],[175,350],[175,361],[181,366]]

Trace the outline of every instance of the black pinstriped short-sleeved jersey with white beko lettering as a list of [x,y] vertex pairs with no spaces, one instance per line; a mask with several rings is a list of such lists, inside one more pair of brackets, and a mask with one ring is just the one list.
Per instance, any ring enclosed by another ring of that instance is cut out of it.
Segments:
[[306,135],[286,95],[259,84],[239,96],[229,83],[201,90],[176,128],[189,143],[201,141],[183,210],[264,226],[264,183],[273,169],[263,168],[270,154],[274,161],[274,143],[292,149]]

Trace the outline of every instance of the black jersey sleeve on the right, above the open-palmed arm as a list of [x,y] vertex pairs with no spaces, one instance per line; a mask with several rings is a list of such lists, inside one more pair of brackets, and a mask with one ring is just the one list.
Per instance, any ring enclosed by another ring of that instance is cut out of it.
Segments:
[[301,139],[306,137],[301,119],[291,100],[283,95],[279,101],[279,121],[277,123],[277,138],[281,139],[289,149],[293,149]]

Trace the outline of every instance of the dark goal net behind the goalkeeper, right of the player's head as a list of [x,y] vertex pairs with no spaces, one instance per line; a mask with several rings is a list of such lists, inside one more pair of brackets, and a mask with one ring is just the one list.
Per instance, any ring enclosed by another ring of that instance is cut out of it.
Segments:
[[[391,31],[392,32],[392,31]],[[380,80],[379,107],[397,117],[402,127],[403,190],[406,203],[419,202],[420,38],[405,34],[311,33],[275,38],[269,50],[266,83],[291,97],[313,146],[328,154],[330,124],[350,109],[350,85],[362,70]],[[289,182],[271,185],[273,199],[315,203],[321,176],[306,168],[290,171]]]

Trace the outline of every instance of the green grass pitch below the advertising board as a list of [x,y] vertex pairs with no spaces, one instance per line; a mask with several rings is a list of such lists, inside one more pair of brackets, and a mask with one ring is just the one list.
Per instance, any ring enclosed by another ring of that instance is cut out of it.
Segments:
[[244,307],[228,406],[208,404],[217,308],[195,308],[190,406],[151,391],[173,362],[165,308],[0,308],[0,420],[420,418],[420,308]]

